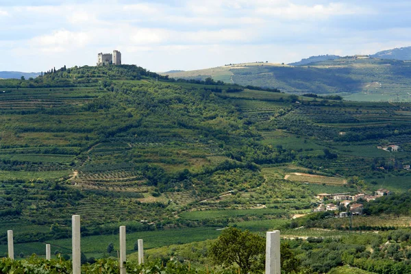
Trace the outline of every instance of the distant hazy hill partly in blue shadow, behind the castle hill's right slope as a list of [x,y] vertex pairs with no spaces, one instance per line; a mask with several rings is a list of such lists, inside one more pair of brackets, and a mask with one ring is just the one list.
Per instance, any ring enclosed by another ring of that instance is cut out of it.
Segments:
[[352,56],[284,66],[249,63],[169,73],[184,79],[213,79],[243,86],[279,88],[297,94],[338,94],[352,101],[410,101],[411,62]]

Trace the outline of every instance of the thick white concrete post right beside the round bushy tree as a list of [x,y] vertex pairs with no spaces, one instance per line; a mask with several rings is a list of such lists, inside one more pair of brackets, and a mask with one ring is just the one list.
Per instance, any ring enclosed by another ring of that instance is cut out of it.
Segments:
[[265,273],[281,274],[281,262],[279,254],[279,230],[267,232]]

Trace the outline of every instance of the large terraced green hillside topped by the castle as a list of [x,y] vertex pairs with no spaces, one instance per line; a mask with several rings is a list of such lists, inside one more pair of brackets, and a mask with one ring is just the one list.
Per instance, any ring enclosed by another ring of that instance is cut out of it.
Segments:
[[[71,214],[82,215],[84,251],[100,257],[120,224],[161,247],[158,231],[171,245],[215,238],[228,224],[279,227],[309,212],[319,192],[409,188],[409,103],[175,81],[125,65],[0,87],[3,253],[7,229],[17,253],[42,254],[39,242],[51,239],[69,252]],[[399,151],[377,149],[394,144]],[[284,179],[290,173],[347,184]]]

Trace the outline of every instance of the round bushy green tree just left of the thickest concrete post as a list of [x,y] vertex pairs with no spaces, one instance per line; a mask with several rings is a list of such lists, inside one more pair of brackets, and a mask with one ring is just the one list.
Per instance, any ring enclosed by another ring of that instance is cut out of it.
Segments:
[[[264,238],[248,230],[230,227],[223,230],[210,248],[209,256],[216,264],[230,266],[238,264],[242,273],[256,273],[264,269]],[[260,263],[260,264],[259,264]]]

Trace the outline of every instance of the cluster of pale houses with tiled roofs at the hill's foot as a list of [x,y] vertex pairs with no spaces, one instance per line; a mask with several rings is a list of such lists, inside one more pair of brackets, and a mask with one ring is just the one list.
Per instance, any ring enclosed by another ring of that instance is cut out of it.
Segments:
[[[363,199],[364,201],[371,201],[375,200],[378,197],[390,195],[390,190],[386,190],[385,188],[379,188],[379,190],[375,191],[374,195],[365,195],[364,193],[360,193],[357,195],[349,195],[350,193],[336,193],[336,194],[328,194],[328,193],[320,193],[316,196],[317,199],[322,200],[320,205],[314,209],[314,212],[323,212],[323,211],[338,211],[339,206],[336,205],[338,203],[340,206],[343,205],[345,208],[349,208],[348,212],[340,212],[340,217],[348,216],[348,213],[353,215],[360,215],[362,214],[362,203],[356,203],[359,199]],[[323,201],[334,201],[336,203],[325,203]]]

